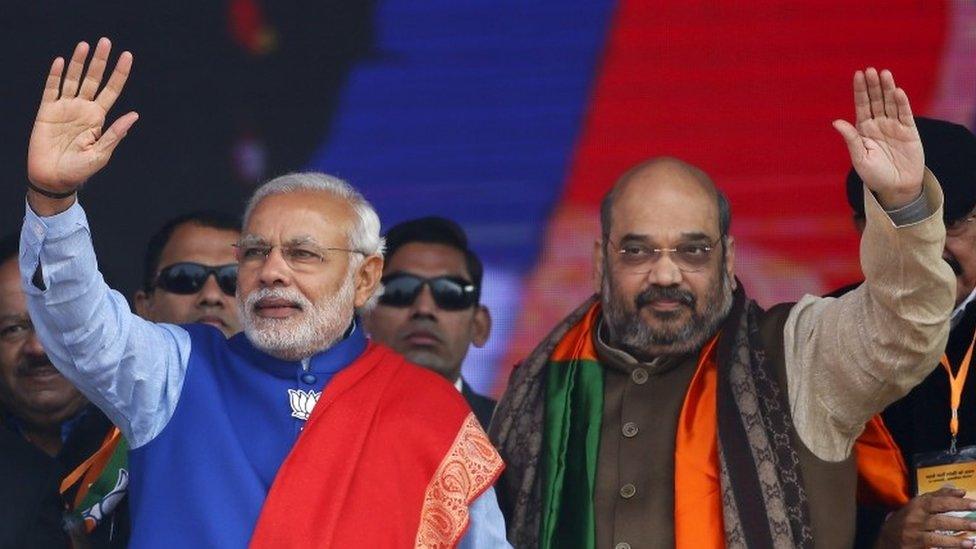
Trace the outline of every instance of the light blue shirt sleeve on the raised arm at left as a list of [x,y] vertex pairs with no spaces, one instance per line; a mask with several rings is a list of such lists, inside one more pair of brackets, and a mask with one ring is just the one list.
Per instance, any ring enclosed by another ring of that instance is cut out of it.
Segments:
[[119,427],[130,447],[152,440],[176,409],[189,334],[132,314],[108,287],[77,202],[43,218],[27,206],[19,259],[27,309],[51,362]]

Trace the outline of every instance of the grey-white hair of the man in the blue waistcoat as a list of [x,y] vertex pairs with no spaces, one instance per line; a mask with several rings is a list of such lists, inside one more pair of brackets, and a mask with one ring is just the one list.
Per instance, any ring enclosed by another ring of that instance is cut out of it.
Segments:
[[254,207],[265,198],[299,191],[326,192],[346,200],[356,213],[356,221],[348,235],[349,247],[367,256],[383,254],[384,241],[380,236],[380,218],[376,215],[376,210],[352,185],[324,173],[295,172],[276,177],[261,185],[247,201],[247,208],[244,209],[244,226],[247,226]]

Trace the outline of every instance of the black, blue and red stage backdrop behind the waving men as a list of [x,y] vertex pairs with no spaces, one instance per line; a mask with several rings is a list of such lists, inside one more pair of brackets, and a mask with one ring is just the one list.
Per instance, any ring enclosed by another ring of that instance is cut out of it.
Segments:
[[853,116],[854,70],[890,68],[917,114],[976,119],[965,1],[112,4],[3,16],[3,228],[21,217],[48,60],[109,34],[136,57],[120,112],[143,114],[83,198],[110,282],[131,292],[171,215],[236,211],[286,171],[337,174],[384,227],[438,214],[467,229],[495,325],[465,376],[496,394],[593,291],[598,203],[628,166],[672,155],[710,173],[739,276],[768,305],[860,277],[830,126]]

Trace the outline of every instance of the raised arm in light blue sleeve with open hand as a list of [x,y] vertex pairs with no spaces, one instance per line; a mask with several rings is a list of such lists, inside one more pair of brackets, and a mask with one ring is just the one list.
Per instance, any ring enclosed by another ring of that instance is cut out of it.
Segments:
[[102,132],[132,55],[119,57],[99,93],[111,44],[98,42],[85,73],[88,49],[78,44],[67,71],[64,60],[55,59],[44,86],[27,155],[21,282],[52,363],[137,447],[158,434],[175,409],[189,335],[133,315],[98,272],[76,191],[105,166],[137,115],[128,113]]

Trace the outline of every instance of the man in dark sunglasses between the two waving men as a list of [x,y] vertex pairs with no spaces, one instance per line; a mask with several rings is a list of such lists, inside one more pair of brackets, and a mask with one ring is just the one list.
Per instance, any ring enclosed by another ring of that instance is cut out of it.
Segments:
[[495,401],[461,378],[468,348],[484,346],[491,332],[480,303],[483,271],[457,223],[404,221],[386,233],[383,293],[365,320],[377,341],[453,383],[487,429]]

